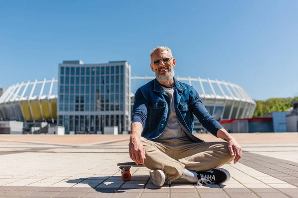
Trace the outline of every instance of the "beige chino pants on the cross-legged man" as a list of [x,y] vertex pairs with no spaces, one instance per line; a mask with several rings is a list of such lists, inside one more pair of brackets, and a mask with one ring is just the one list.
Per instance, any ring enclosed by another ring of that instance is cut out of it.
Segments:
[[181,177],[184,168],[205,171],[220,167],[234,158],[226,142],[195,143],[178,138],[153,142],[143,137],[141,142],[146,152],[144,165],[151,170],[161,169],[169,182]]

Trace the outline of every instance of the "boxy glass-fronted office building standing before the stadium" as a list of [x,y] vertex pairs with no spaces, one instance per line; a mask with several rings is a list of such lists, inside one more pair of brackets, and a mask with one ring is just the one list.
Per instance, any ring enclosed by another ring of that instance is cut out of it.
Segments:
[[66,134],[104,132],[118,126],[128,131],[130,123],[130,65],[126,61],[107,64],[59,64],[58,125]]

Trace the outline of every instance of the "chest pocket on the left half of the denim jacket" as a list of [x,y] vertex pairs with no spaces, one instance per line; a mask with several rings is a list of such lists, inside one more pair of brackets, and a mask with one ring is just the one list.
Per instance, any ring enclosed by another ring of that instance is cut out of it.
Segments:
[[165,101],[149,101],[148,117],[150,119],[151,125],[155,125],[156,127],[156,125],[163,117],[164,109],[165,109]]

